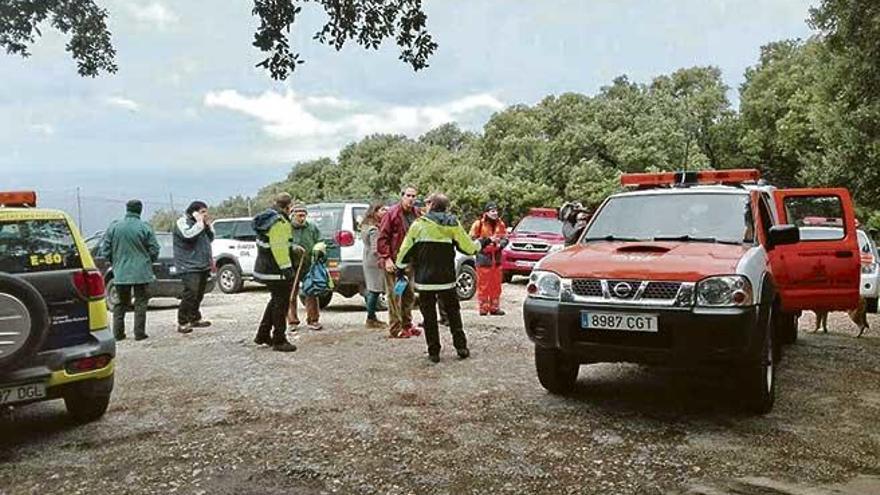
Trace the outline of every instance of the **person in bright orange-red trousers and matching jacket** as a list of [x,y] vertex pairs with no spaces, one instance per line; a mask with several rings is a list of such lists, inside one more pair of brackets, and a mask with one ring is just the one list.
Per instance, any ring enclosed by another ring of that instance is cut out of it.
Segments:
[[501,309],[501,250],[507,244],[507,226],[498,216],[498,205],[489,202],[471,226],[473,239],[489,239],[477,253],[477,301],[480,316],[503,315]]

